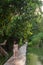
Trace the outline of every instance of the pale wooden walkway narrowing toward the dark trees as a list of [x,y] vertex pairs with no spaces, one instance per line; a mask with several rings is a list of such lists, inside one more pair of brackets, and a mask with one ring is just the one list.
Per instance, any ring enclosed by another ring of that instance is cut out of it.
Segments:
[[14,55],[4,65],[25,65],[26,64],[26,47],[24,44],[19,48],[18,57],[15,59]]

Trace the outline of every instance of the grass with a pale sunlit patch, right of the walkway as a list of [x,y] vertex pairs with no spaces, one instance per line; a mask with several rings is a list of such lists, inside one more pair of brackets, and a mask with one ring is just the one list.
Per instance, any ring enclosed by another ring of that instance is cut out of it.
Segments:
[[27,49],[27,64],[26,65],[36,65],[37,61],[43,63],[43,48],[33,48],[29,47]]

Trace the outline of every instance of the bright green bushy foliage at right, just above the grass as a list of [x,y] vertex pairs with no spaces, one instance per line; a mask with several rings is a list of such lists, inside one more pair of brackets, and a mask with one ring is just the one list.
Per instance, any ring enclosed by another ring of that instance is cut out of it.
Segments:
[[29,42],[29,45],[39,45],[42,43],[43,40],[43,33],[40,32],[37,35],[32,36],[31,42]]

